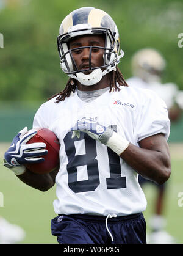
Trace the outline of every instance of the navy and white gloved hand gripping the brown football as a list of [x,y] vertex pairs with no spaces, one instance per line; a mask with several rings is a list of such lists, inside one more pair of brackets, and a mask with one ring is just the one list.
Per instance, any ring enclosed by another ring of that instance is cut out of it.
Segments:
[[40,163],[45,161],[41,156],[46,155],[45,143],[26,144],[31,139],[37,130],[32,129],[27,131],[27,127],[21,130],[12,141],[9,149],[4,153],[4,166],[11,169],[21,166],[25,163]]

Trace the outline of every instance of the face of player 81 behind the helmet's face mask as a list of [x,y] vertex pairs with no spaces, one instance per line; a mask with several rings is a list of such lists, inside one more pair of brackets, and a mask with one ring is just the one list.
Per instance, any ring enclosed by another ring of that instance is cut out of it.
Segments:
[[[82,37],[74,38],[70,41],[70,49],[74,49],[82,46],[101,46],[104,47],[105,40],[102,35],[85,35]],[[78,70],[85,70],[90,68],[90,48],[76,49],[72,51],[74,60],[76,62]],[[104,64],[104,49],[92,48],[91,52],[91,67],[101,67]],[[86,71],[85,73],[90,73]]]

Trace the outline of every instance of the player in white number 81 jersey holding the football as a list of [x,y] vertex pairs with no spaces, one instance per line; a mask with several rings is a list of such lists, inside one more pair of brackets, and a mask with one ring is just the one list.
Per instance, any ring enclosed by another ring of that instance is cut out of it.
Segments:
[[66,16],[57,48],[70,78],[40,106],[33,128],[59,138],[60,168],[44,175],[24,168],[46,154],[44,144],[27,146],[37,131],[26,128],[4,164],[42,191],[56,183],[51,230],[59,243],[146,243],[138,174],[159,184],[170,177],[167,106],[156,93],[127,85],[117,67],[124,54],[118,29],[103,10],[83,7]]

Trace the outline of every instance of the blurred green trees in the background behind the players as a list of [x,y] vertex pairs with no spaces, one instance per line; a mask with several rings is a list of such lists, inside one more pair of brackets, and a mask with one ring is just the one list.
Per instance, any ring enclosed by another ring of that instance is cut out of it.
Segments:
[[[5,6],[2,7],[3,3]],[[46,101],[65,87],[56,37],[63,18],[84,6],[112,16],[125,55],[119,67],[131,74],[131,57],[140,48],[157,48],[167,60],[163,82],[183,89],[182,55],[178,34],[183,32],[182,0],[0,0],[0,101]]]

